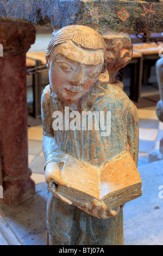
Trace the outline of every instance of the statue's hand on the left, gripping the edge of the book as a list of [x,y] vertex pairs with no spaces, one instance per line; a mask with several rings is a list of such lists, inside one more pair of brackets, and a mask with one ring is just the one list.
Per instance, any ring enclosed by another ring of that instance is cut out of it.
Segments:
[[54,197],[61,199],[66,204],[72,204],[70,200],[62,197],[57,191],[59,186],[68,186],[57,163],[52,162],[47,164],[45,169],[45,180]]

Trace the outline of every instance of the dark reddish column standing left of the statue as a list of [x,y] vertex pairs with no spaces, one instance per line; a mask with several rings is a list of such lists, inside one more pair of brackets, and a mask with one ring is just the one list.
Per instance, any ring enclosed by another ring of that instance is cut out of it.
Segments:
[[0,21],[0,147],[4,202],[18,205],[32,197],[35,184],[28,168],[26,52],[35,28]]

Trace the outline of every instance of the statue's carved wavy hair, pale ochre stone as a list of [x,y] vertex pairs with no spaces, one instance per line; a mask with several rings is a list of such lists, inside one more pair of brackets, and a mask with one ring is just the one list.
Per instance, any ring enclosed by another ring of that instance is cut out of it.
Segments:
[[102,72],[106,71],[105,54],[106,43],[102,35],[97,33],[90,27],[81,25],[72,25],[61,28],[51,39],[46,51],[46,59],[53,53],[55,47],[65,42],[72,41],[77,46],[84,48],[85,50],[100,50],[104,52],[104,65]]

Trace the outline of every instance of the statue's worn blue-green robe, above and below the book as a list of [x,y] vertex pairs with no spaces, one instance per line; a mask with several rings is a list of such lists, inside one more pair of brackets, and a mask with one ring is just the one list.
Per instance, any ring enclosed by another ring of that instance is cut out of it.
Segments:
[[[54,111],[64,113],[64,105],[50,86],[43,90],[41,108],[45,168],[49,162],[63,162],[66,154],[101,166],[126,149],[137,165],[137,109],[121,88],[110,84],[99,88],[96,84],[92,86],[80,102],[80,111],[111,111],[111,133],[106,137],[101,136],[101,130],[95,129],[54,131],[52,114]],[[63,203],[48,191],[47,230],[50,245],[122,245],[123,210],[115,217],[101,220],[77,206]]]

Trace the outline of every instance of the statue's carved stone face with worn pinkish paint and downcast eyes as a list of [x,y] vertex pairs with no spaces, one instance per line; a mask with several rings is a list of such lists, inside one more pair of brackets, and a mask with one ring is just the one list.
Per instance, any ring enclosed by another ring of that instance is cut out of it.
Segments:
[[74,103],[98,79],[104,63],[103,50],[85,50],[68,41],[59,45],[49,59],[49,81],[64,103]]

